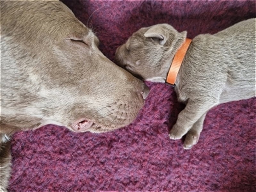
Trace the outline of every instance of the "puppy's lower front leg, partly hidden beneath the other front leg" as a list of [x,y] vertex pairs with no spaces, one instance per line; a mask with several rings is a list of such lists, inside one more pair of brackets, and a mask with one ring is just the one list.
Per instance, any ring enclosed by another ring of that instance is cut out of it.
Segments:
[[186,139],[183,144],[184,149],[190,149],[193,147],[193,145],[196,145],[199,139],[200,133],[203,130],[205,116],[206,116],[206,113],[197,120],[197,122],[192,126],[192,128],[186,134]]

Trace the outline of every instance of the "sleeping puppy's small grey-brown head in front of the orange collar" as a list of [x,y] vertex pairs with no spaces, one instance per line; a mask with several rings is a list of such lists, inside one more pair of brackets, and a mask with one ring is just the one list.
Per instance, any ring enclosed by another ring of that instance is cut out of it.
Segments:
[[119,65],[143,80],[165,82],[172,58],[185,41],[171,25],[141,28],[116,50]]

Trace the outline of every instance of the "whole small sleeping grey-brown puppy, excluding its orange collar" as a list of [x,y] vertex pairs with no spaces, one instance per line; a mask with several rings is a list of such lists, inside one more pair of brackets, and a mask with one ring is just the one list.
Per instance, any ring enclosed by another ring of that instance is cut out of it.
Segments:
[[[116,51],[121,65],[145,80],[165,82],[172,59],[187,32],[168,24],[141,28]],[[186,107],[170,131],[186,135],[184,148],[198,141],[204,118],[213,106],[255,96],[255,19],[239,22],[214,35],[196,36],[184,57],[176,82]]]

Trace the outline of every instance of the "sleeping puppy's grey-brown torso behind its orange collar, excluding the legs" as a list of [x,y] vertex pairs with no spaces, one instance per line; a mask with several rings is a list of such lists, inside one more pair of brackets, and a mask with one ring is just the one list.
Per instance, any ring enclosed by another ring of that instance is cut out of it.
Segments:
[[220,103],[254,97],[255,21],[196,36],[178,74],[180,87],[194,87],[204,96],[220,95]]

